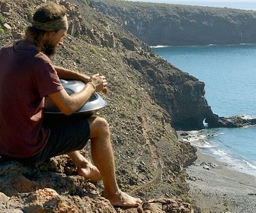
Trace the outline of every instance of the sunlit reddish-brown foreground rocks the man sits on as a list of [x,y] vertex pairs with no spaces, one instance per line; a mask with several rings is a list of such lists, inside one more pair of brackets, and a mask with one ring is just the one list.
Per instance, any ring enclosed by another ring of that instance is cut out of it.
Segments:
[[59,162],[65,162],[65,157],[54,160],[26,167],[0,158],[0,212],[194,212],[177,198],[151,199],[139,208],[114,208],[93,183],[61,172]]

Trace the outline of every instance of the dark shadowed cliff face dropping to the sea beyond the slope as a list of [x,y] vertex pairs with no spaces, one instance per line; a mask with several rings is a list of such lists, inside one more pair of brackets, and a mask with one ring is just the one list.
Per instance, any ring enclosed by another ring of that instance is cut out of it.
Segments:
[[174,129],[203,129],[203,119],[216,120],[204,97],[203,82],[158,56],[152,60],[140,56],[125,56],[125,59],[144,76],[139,79],[140,84],[149,86],[150,96],[171,116],[168,122]]

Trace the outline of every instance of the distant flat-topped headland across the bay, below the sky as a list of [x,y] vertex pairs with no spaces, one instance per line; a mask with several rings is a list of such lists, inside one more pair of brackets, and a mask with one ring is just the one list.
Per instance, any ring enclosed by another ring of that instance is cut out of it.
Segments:
[[119,0],[91,5],[151,46],[256,42],[256,11]]

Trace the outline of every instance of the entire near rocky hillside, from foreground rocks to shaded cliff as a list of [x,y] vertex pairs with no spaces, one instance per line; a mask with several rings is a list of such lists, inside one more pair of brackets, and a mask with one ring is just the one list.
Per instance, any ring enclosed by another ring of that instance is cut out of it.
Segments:
[[[40,2],[0,0],[1,46],[22,37]],[[70,25],[65,46],[53,61],[107,76],[110,93],[103,97],[108,104],[99,114],[110,123],[117,181],[121,189],[145,201],[140,210],[118,212],[192,212],[190,205],[174,198],[187,196],[183,167],[196,159],[195,149],[178,141],[172,126],[199,129],[205,116],[213,116],[203,83],[155,56],[149,46],[86,2],[56,2],[68,9]],[[82,152],[90,156],[88,146]],[[0,177],[1,211],[117,211],[101,198],[101,183],[95,187],[76,176],[66,156],[35,167],[0,158]]]

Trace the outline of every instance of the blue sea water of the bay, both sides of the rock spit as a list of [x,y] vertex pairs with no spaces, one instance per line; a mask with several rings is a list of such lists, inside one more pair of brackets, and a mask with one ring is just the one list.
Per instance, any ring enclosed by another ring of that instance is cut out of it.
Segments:
[[[152,51],[203,81],[218,116],[256,117],[256,44],[155,46]],[[234,170],[256,176],[256,126],[191,131],[187,138]]]

